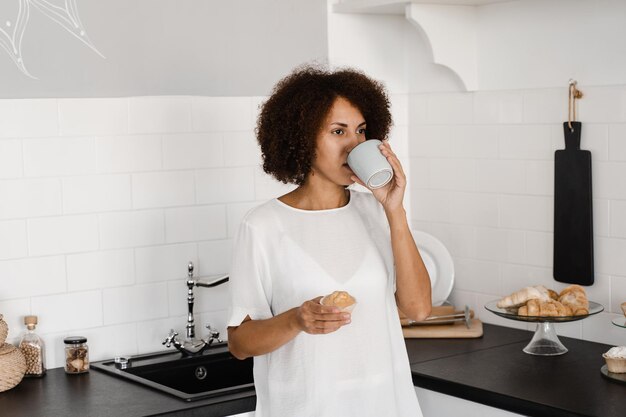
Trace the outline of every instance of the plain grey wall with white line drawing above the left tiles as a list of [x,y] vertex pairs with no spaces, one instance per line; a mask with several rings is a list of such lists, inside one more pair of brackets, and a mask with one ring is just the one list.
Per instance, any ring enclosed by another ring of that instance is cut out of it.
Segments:
[[[325,0],[75,3],[106,59],[31,6],[21,45],[37,79],[0,48],[0,98],[266,95],[292,67],[327,57]],[[18,1],[0,2],[10,36],[17,11]]]

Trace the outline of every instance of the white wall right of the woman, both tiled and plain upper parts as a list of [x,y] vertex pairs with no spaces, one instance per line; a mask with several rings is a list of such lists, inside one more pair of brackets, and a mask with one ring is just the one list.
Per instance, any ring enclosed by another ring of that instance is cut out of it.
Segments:
[[330,62],[408,93],[412,224],[452,253],[452,300],[486,322],[529,329],[483,305],[526,285],[564,287],[552,278],[553,161],[576,78],[582,144],[593,154],[597,275],[588,292],[606,312],[557,331],[626,344],[611,324],[626,301],[626,3],[512,1],[480,6],[477,16],[476,93],[432,64],[427,41],[401,15],[330,13]]

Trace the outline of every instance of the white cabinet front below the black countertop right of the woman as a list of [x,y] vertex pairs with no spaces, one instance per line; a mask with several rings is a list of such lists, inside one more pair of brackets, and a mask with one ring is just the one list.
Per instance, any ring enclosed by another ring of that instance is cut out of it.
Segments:
[[519,417],[521,414],[415,387],[424,417]]

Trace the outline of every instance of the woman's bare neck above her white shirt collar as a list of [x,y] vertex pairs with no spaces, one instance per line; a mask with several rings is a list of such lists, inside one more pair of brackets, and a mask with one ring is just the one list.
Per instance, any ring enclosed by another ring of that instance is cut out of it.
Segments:
[[350,191],[342,185],[312,184],[307,181],[279,200],[301,210],[329,210],[348,204]]

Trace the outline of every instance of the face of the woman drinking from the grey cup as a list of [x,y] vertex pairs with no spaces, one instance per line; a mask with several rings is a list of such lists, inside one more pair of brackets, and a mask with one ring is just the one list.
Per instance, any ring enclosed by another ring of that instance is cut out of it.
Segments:
[[350,185],[354,173],[348,167],[348,153],[365,141],[365,119],[355,106],[338,97],[322,122],[317,135],[313,171],[321,179],[338,185]]

